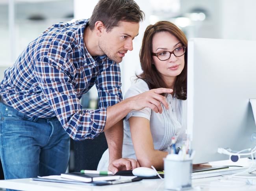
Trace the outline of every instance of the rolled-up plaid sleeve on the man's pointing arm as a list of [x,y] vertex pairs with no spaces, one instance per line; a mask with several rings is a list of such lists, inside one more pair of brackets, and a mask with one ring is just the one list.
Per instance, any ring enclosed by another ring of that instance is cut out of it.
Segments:
[[103,131],[106,107],[83,110],[65,66],[52,58],[41,57],[35,63],[35,76],[50,107],[72,139],[92,139]]

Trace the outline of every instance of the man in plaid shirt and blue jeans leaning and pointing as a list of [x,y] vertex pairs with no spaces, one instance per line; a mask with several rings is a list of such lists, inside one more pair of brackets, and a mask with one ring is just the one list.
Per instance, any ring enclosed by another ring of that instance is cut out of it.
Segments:
[[[133,0],[100,0],[89,21],[52,25],[5,71],[0,156],[6,179],[64,173],[69,136],[84,140],[103,131],[110,171],[139,166],[121,156],[122,118],[144,107],[161,113],[161,103],[168,104],[159,94],[172,92],[155,89],[121,101],[118,63],[132,51],[142,20]],[[94,84],[99,109],[82,110],[79,99]]]

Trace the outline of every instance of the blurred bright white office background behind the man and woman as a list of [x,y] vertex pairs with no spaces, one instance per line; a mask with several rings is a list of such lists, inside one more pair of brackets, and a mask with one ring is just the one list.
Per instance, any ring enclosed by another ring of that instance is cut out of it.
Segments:
[[[145,13],[145,21],[140,25],[139,36],[134,39],[134,50],[128,52],[120,64],[123,94],[129,88],[132,76],[141,72],[139,49],[143,32],[147,25],[158,20],[174,22],[186,33],[187,38],[256,40],[254,0],[135,1]],[[48,26],[72,19],[89,18],[97,2],[98,0],[0,0],[0,79],[4,76],[4,70],[13,65],[26,45]],[[85,108],[95,108],[97,96],[96,88],[93,87],[81,100],[82,105]]]

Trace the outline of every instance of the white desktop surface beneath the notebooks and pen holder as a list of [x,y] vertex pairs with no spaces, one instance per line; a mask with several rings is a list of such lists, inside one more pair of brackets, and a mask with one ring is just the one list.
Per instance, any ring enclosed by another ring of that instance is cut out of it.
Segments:
[[[230,163],[229,161],[212,162],[212,165],[241,165],[248,166],[250,160],[244,159],[240,163]],[[211,178],[193,179],[193,191],[255,191],[256,180],[253,185],[243,184],[246,179],[226,179],[221,176]],[[18,189],[23,191],[161,191],[164,190],[164,181],[160,179],[142,180],[126,184],[111,186],[84,186],[55,182],[40,182],[25,179],[0,180],[0,187]]]

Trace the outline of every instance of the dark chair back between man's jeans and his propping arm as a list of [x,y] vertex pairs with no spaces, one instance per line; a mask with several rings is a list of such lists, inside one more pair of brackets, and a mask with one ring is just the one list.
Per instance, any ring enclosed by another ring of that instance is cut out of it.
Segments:
[[105,134],[101,133],[95,139],[71,140],[71,147],[74,147],[74,171],[79,172],[82,169],[96,170],[108,144]]

